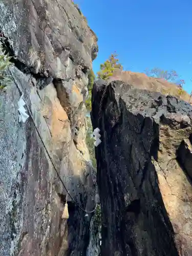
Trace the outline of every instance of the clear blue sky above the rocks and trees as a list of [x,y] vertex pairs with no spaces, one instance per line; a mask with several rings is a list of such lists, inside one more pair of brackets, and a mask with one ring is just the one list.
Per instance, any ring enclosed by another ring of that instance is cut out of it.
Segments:
[[75,0],[98,36],[96,73],[116,51],[125,70],[176,70],[192,90],[192,0]]

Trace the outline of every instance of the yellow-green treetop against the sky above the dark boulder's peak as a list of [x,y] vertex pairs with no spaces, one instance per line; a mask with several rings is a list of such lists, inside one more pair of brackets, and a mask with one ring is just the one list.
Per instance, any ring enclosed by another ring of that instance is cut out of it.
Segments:
[[108,60],[106,60],[103,64],[100,65],[100,71],[97,72],[98,78],[100,79],[108,79],[113,75],[115,70],[122,70],[123,67],[119,62],[119,59],[116,57],[118,54],[111,54]]

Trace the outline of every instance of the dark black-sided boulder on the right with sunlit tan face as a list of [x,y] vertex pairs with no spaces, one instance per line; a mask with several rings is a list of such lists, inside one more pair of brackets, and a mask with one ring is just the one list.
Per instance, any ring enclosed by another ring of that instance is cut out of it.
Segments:
[[173,96],[95,82],[101,255],[192,255],[191,120]]

